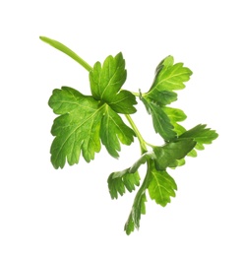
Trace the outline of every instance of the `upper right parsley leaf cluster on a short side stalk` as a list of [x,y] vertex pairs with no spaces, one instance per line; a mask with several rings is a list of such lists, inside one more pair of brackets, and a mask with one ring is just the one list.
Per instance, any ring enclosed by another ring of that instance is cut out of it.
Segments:
[[156,133],[165,141],[171,141],[185,132],[178,121],[186,118],[180,109],[165,107],[177,99],[176,90],[185,88],[185,82],[190,79],[192,71],[183,63],[174,64],[172,56],[163,59],[157,66],[155,78],[150,91],[141,95],[147,110],[152,114],[152,123]]

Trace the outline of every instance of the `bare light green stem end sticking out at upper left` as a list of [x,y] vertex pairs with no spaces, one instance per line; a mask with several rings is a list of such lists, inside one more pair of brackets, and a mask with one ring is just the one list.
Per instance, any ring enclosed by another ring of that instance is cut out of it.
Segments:
[[70,48],[68,48],[66,45],[62,44],[59,41],[53,40],[51,38],[45,37],[45,36],[39,36],[39,38],[50,44],[52,47],[62,51],[63,53],[67,54],[69,57],[71,57],[72,59],[76,60],[79,64],[81,64],[81,66],[83,66],[87,71],[91,71],[92,68],[91,66],[85,61],[83,60],[79,55],[77,55],[74,51],[72,51]]

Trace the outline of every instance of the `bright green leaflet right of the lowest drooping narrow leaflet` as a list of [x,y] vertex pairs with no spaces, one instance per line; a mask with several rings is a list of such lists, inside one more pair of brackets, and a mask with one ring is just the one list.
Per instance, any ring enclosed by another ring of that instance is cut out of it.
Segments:
[[152,179],[149,185],[149,193],[152,200],[165,207],[170,203],[170,197],[175,197],[177,190],[174,179],[166,171],[152,170]]

